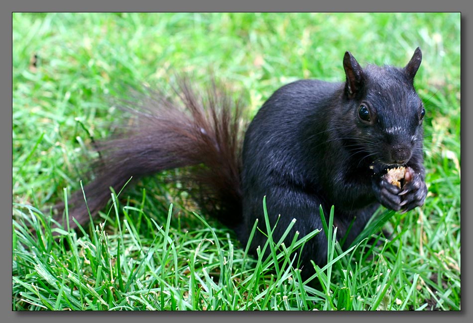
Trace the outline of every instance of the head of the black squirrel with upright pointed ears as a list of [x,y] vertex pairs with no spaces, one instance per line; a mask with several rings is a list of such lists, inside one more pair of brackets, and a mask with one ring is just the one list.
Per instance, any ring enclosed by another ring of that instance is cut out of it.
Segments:
[[425,109],[414,89],[421,61],[422,52],[417,48],[404,68],[368,65],[362,69],[350,52],[345,53],[347,109],[343,119],[355,124],[345,137],[357,141],[355,149],[363,146],[374,161],[405,164],[422,147]]

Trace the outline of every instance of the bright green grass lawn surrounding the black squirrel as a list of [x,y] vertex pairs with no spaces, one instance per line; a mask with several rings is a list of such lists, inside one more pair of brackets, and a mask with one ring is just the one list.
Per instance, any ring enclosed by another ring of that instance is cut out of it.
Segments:
[[[118,113],[108,98],[126,86],[166,88],[182,71],[205,83],[211,69],[249,119],[284,83],[343,80],[346,50],[361,65],[404,66],[417,46],[426,204],[381,209],[366,231],[374,241],[329,243],[311,282],[285,265],[311,237],[269,240],[269,258],[250,257],[166,174],[116,192],[82,232],[51,229],[45,208],[87,180],[91,142]],[[461,309],[460,14],[15,13],[12,54],[13,310]]]

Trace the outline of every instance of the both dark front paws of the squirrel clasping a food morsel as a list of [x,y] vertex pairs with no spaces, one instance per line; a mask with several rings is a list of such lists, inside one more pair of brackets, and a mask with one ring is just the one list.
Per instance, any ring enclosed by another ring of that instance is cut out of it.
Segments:
[[379,203],[388,209],[402,213],[423,205],[427,196],[425,181],[409,166],[406,167],[402,187],[392,184],[388,174],[373,178],[372,184]]

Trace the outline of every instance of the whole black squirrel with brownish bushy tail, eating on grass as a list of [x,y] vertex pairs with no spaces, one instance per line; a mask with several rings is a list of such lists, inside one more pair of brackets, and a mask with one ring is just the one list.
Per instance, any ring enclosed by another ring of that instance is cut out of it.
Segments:
[[[184,109],[165,94],[151,94],[132,109],[130,127],[98,144],[96,177],[84,187],[88,208],[97,214],[110,198],[109,187],[118,191],[130,177],[185,167],[201,212],[233,228],[243,244],[256,219],[265,232],[266,196],[271,227],[280,215],[274,240],[293,219],[289,240],[295,231],[303,237],[322,229],[319,206],[327,216],[333,205],[339,238],[346,235],[350,245],[380,204],[405,212],[424,203],[425,109],[413,85],[421,60],[417,48],[404,68],[362,69],[346,52],[345,82],[301,80],[280,87],[250,122],[243,143],[241,106],[215,83],[203,102],[188,81],[181,82]],[[386,169],[395,166],[406,169],[402,187],[386,178]],[[82,192],[70,202],[69,216],[89,221]],[[250,249],[265,241],[257,230]],[[304,246],[301,260],[303,268],[311,268],[310,260],[327,262],[324,234]],[[304,276],[309,271],[303,269]]]

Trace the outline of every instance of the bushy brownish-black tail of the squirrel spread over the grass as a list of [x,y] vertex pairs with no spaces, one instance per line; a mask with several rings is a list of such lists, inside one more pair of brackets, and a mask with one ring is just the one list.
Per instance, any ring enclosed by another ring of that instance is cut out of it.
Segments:
[[[125,107],[131,118],[120,133],[98,143],[100,159],[93,165],[94,180],[84,186],[92,216],[110,199],[110,187],[118,192],[134,179],[165,169],[186,167],[183,180],[202,212],[229,227],[242,220],[240,191],[241,106],[212,82],[202,97],[187,79],[175,94],[148,91],[144,99]],[[123,130],[124,129],[124,130]],[[72,194],[69,217],[81,225],[89,221],[82,191]],[[59,209],[64,206],[59,206]],[[58,216],[57,220],[61,221]],[[71,227],[76,227],[70,221]]]

